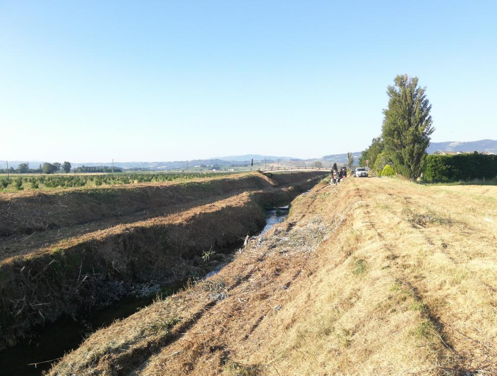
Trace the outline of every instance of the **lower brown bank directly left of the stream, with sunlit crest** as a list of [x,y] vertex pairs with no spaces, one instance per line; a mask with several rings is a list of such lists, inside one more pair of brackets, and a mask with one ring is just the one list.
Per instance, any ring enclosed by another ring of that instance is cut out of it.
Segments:
[[[282,188],[246,192],[153,220],[115,226],[13,257],[0,265],[0,346],[63,313],[98,304],[115,281],[187,275],[212,246],[223,247],[264,223],[264,206],[295,197],[320,180],[314,175]],[[110,290],[109,290],[110,289]]]

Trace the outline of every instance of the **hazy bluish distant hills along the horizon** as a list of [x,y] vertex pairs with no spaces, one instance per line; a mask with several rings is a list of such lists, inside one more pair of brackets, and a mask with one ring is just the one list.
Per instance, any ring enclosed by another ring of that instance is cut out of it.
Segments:
[[[497,154],[497,141],[496,140],[480,140],[480,141],[468,141],[468,142],[458,142],[458,141],[448,141],[440,143],[431,143],[428,147],[427,152],[429,154],[435,151],[487,151]],[[354,151],[352,153],[354,159],[358,159],[361,156],[361,151]],[[253,158],[254,164],[258,161],[259,163],[264,163],[264,158],[267,163],[280,161],[314,161],[314,160],[324,160],[326,162],[337,162],[337,163],[347,163],[347,153],[342,154],[330,154],[325,155],[321,158],[311,158],[311,159],[299,159],[288,156],[275,156],[275,155],[263,155],[263,154],[245,154],[245,155],[229,155],[221,156],[210,159],[193,159],[189,161],[190,168],[195,167],[236,167],[236,166],[249,166],[250,161]],[[29,163],[31,168],[36,168],[38,165],[43,164],[43,161],[24,161],[24,160],[12,160],[8,162],[9,167],[17,168],[19,163]],[[55,162],[55,161],[50,161]],[[63,162],[62,160],[60,162]],[[111,166],[112,162],[87,162],[87,163],[71,163],[73,167],[80,166]],[[171,169],[185,169],[186,160],[177,161],[167,161],[167,162],[114,162],[114,166],[121,167],[123,169],[131,168],[142,168],[145,170],[171,170]],[[0,160],[0,168],[6,168],[6,161]]]

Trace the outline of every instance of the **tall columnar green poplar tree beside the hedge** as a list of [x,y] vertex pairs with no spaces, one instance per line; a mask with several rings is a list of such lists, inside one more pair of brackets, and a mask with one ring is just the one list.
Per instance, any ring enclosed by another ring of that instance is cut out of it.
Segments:
[[388,109],[383,110],[382,136],[385,149],[397,172],[410,180],[423,170],[424,156],[435,130],[426,87],[417,86],[417,77],[398,75],[388,86]]

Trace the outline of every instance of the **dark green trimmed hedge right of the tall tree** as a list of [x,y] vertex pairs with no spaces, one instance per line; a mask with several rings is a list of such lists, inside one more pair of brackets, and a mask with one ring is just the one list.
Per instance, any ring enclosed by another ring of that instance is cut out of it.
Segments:
[[497,176],[497,155],[476,151],[458,155],[426,155],[423,175],[429,181],[493,179]]

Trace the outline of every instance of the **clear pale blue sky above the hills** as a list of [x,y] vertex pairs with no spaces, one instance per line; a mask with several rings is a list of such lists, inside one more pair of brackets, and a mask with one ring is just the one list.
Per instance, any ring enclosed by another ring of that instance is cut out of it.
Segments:
[[358,151],[404,73],[432,141],[497,139],[496,4],[0,0],[0,159]]

